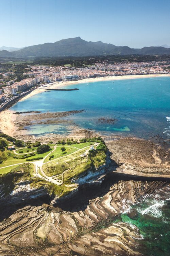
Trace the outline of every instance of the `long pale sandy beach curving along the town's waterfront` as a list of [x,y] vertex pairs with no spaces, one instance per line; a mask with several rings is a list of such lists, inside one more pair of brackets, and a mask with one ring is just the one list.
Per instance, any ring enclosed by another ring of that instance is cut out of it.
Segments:
[[[103,76],[103,77],[92,77],[92,78],[85,78],[78,81],[68,81],[68,82],[54,82],[51,84],[47,84],[47,87],[44,88],[51,88],[51,89],[57,89],[62,88],[64,86],[68,86],[71,84],[82,84],[82,83],[91,83],[91,82],[99,82],[99,81],[114,81],[114,80],[126,80],[126,79],[140,79],[140,78],[149,78],[149,77],[163,77],[163,76],[170,76],[169,74],[150,74],[150,75],[122,75],[122,76]],[[19,101],[26,100],[38,93],[42,93],[44,90],[37,88],[34,91],[32,91],[30,94],[26,95]]]

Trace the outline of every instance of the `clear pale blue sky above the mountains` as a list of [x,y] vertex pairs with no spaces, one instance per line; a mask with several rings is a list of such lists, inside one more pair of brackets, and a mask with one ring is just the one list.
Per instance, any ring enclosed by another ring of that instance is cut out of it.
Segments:
[[130,47],[170,45],[170,0],[0,0],[0,46],[78,36]]

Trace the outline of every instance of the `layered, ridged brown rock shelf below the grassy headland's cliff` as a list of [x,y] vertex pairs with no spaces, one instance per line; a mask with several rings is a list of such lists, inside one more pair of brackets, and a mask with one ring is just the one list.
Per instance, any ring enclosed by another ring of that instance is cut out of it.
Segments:
[[[7,207],[1,207],[0,255],[141,255],[137,228],[111,223],[142,196],[165,186],[165,182],[117,182],[112,175],[83,184],[73,197],[54,205],[44,196],[13,206],[6,201]],[[8,208],[13,213],[5,217]]]

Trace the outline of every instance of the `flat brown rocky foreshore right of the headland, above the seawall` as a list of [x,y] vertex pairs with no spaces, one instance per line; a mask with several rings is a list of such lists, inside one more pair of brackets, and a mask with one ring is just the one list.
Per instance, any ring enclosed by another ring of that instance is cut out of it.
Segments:
[[111,159],[121,169],[150,174],[170,175],[170,150],[168,144],[138,138],[115,138],[106,145]]

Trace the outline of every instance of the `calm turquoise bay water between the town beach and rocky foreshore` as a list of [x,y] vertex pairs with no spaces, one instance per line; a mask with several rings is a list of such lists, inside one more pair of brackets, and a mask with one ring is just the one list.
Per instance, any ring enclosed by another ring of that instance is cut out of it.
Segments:
[[[72,119],[82,128],[103,134],[132,135],[148,138],[170,135],[170,77],[101,81],[75,84],[67,88],[77,91],[50,91],[37,94],[16,103],[11,109],[23,111],[61,112],[82,110],[66,119]],[[115,124],[99,124],[98,118],[115,118]],[[168,119],[169,118],[169,119]],[[169,122],[169,123],[168,123]],[[39,129],[38,129],[39,127]],[[27,127],[28,133],[40,135],[48,132],[70,132],[57,125]],[[37,133],[37,130],[41,131]]]

